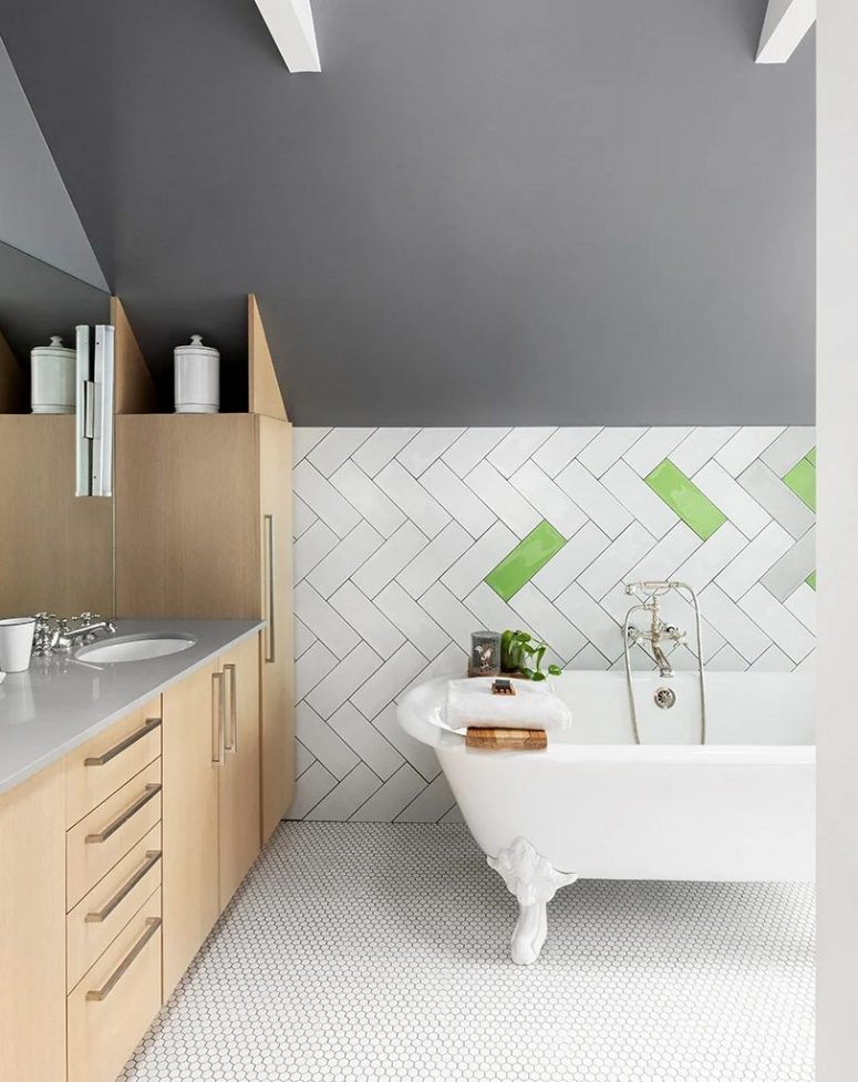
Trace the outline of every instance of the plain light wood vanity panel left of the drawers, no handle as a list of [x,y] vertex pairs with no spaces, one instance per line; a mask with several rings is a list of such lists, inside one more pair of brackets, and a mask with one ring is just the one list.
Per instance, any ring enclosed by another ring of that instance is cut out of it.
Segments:
[[58,763],[0,797],[0,1079],[65,1079],[65,802]]

